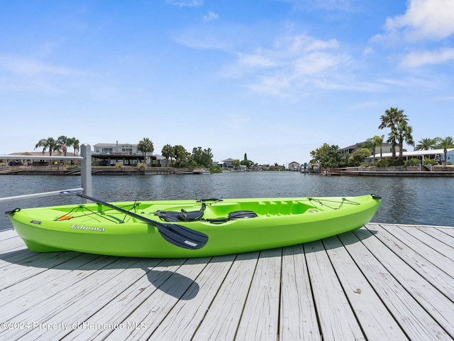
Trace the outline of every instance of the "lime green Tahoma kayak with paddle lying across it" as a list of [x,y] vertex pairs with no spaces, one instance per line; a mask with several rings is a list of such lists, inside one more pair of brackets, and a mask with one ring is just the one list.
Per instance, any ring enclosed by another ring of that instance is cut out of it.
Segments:
[[96,202],[6,214],[32,251],[186,258],[285,247],[358,229],[381,202],[377,195],[110,204],[88,198]]

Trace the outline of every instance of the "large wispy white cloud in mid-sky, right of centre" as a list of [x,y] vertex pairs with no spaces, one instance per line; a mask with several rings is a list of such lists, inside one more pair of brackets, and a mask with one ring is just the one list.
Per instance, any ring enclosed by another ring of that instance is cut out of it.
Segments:
[[238,53],[238,63],[228,76],[240,79],[255,92],[301,98],[313,88],[345,87],[338,84],[341,77],[336,80],[336,70],[348,65],[350,56],[339,49],[336,39],[287,36],[275,40],[270,48]]

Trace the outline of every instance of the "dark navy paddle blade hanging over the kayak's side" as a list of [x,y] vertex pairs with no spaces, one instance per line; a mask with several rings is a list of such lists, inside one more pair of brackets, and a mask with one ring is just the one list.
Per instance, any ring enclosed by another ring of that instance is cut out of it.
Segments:
[[160,232],[162,238],[167,240],[177,247],[184,249],[200,249],[208,242],[208,236],[194,229],[188,229],[182,225],[177,224],[162,224],[155,222],[157,230]]

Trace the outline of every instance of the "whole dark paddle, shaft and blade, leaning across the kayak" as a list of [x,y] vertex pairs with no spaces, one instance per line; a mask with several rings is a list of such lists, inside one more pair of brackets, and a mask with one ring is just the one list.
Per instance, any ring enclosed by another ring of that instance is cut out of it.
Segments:
[[78,192],[71,192],[69,190],[61,192],[61,194],[67,195],[77,195],[78,197],[83,197],[84,199],[91,200],[93,202],[97,202],[101,205],[109,207],[113,210],[117,210],[119,212],[123,212],[125,215],[129,215],[130,217],[134,217],[138,220],[142,220],[147,224],[153,225],[157,228],[157,231],[160,232],[161,236],[177,247],[182,247],[184,249],[200,249],[204,247],[206,242],[208,242],[208,236],[202,232],[195,231],[194,229],[189,229],[182,225],[177,224],[164,224],[162,222],[156,222],[155,220],[150,220],[148,218],[143,217],[142,215],[138,215],[135,212],[131,212],[125,210],[122,207],[118,207],[109,202],[104,202],[94,197],[89,197],[88,195],[84,195]]

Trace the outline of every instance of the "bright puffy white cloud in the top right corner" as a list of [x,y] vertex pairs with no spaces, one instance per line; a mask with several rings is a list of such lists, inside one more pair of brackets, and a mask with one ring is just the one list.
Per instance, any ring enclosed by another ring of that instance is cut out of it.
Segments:
[[454,1],[409,0],[406,13],[388,18],[385,27],[410,40],[446,38],[454,33]]

